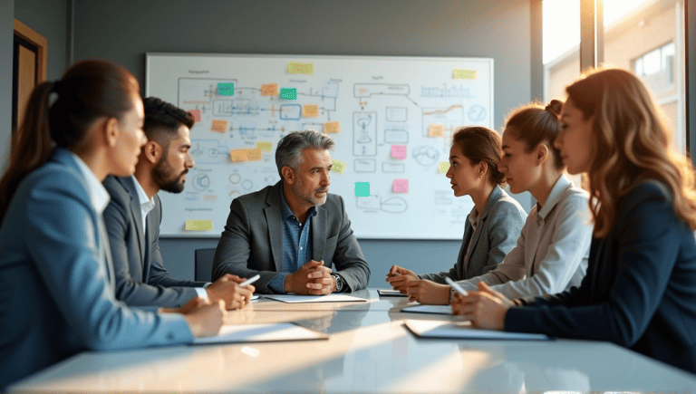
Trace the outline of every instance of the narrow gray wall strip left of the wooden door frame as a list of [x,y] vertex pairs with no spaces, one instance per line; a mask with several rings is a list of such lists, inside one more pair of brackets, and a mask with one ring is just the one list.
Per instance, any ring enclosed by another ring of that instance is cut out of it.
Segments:
[[12,47],[14,43],[14,0],[0,1],[0,174],[10,159],[12,137]]

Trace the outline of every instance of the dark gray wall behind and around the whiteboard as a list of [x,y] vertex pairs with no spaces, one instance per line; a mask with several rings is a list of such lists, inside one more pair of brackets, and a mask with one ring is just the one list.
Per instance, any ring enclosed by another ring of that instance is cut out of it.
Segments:
[[[495,60],[498,130],[507,111],[531,98],[529,0],[82,0],[74,29],[75,60],[119,62],[141,84],[146,52],[470,56]],[[520,200],[528,210],[528,195]],[[216,244],[164,239],[160,246],[170,273],[192,278],[193,250]],[[443,270],[459,251],[459,241],[361,245],[371,286],[382,286],[394,262]]]

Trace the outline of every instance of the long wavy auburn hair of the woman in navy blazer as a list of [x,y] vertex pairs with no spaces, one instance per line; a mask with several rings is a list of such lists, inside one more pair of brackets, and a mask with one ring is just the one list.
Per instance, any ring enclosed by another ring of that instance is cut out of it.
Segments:
[[594,117],[589,172],[594,236],[609,235],[622,197],[645,179],[672,191],[675,213],[696,229],[696,190],[691,161],[670,147],[662,111],[635,75],[620,69],[590,70],[568,86],[568,101]]

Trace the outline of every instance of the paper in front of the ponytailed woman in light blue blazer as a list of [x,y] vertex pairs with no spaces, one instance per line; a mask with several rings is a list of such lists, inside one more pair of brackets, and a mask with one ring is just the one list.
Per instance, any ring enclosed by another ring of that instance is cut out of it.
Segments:
[[218,335],[195,338],[193,344],[326,340],[329,336],[291,322],[224,325]]

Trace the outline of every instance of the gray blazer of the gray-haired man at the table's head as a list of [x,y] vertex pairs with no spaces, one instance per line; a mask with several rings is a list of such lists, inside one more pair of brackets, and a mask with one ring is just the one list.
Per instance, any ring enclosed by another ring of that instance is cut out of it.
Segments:
[[[223,274],[241,277],[261,275],[256,292],[272,293],[268,283],[283,268],[283,218],[281,181],[274,186],[232,200],[227,225],[220,236],[213,261],[213,278]],[[343,198],[328,194],[326,203],[312,216],[312,242],[316,261],[341,274],[351,290],[367,286],[370,267],[365,262]],[[335,268],[333,268],[335,265]]]

